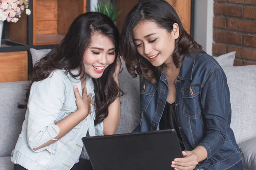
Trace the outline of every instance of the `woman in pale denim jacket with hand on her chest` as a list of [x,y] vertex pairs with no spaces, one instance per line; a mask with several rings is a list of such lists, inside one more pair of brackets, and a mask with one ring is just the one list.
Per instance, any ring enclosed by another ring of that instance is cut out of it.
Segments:
[[118,52],[119,32],[109,17],[88,12],[73,21],[33,69],[14,170],[92,169],[81,138],[116,131]]

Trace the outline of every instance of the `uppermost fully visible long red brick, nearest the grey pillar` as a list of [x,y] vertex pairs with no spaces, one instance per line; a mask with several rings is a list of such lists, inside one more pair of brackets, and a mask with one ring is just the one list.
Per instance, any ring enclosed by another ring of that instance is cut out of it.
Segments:
[[224,5],[215,3],[213,7],[214,14],[226,15],[231,17],[241,17],[242,16],[242,7],[233,6],[233,5]]

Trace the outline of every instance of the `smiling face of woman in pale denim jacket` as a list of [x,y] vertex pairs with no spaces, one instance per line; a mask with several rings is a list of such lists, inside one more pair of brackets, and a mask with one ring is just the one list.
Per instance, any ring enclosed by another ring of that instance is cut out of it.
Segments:
[[84,52],[85,73],[94,79],[100,78],[108,65],[114,62],[115,49],[115,45],[109,37],[94,33],[89,48]]

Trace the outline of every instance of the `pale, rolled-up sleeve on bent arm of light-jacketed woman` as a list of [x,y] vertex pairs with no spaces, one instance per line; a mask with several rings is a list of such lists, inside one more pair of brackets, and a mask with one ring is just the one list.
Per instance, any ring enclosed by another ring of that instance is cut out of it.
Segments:
[[[28,102],[28,129],[27,141],[33,150],[42,144],[58,136],[60,129],[55,125],[55,120],[63,107],[65,100],[64,78],[54,71],[51,76],[39,82],[34,82],[31,86]],[[56,142],[55,142],[56,143]],[[56,144],[36,150],[47,149],[54,152]]]

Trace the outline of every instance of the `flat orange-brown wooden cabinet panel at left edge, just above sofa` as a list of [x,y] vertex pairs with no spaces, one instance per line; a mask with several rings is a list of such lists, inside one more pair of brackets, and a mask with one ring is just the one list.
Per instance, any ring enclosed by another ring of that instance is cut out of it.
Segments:
[[27,51],[0,53],[0,68],[0,82],[16,82],[27,80]]

